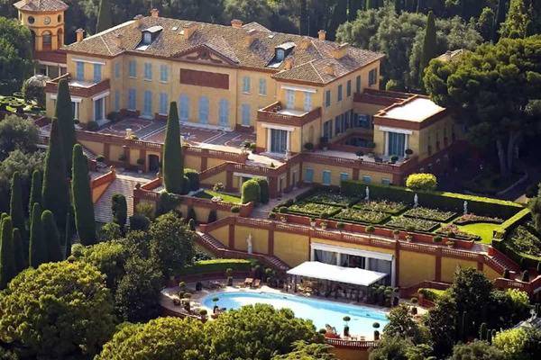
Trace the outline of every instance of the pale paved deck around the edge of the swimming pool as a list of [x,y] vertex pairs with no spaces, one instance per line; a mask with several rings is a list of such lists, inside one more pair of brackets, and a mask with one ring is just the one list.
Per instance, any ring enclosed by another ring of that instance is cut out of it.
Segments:
[[[209,284],[208,281],[203,281],[202,283],[203,284]],[[216,280],[216,281],[210,281],[210,283],[223,284],[223,281],[222,280]],[[208,312],[209,315],[212,314],[213,310],[211,308],[207,308],[206,306],[202,305],[202,303],[201,303],[203,301],[203,299],[206,298],[206,296],[212,295],[213,293],[233,293],[233,292],[281,293],[281,294],[296,295],[296,296],[301,296],[301,297],[310,297],[310,298],[314,298],[315,300],[321,300],[321,301],[325,301],[325,302],[335,302],[335,303],[341,303],[341,304],[362,306],[362,307],[373,309],[375,311],[385,312],[386,314],[389,313],[389,311],[390,311],[389,308],[385,308],[385,307],[381,307],[381,306],[377,306],[377,305],[373,305],[373,304],[368,304],[368,303],[345,302],[343,300],[334,300],[334,299],[329,299],[329,298],[325,298],[325,297],[322,297],[322,296],[316,296],[316,295],[307,296],[307,295],[304,295],[302,293],[288,293],[288,292],[282,291],[281,289],[272,288],[272,287],[269,287],[269,286],[264,285],[264,284],[259,288],[246,288],[246,287],[243,287],[243,281],[241,281],[241,280],[234,282],[234,286],[224,286],[224,287],[217,288],[217,289],[209,289],[206,286],[204,286],[203,290],[201,290],[200,292],[194,292],[193,291],[195,289],[195,283],[188,283],[186,288],[187,288],[188,291],[190,291],[190,293],[192,293],[192,296],[190,298],[191,310],[194,311],[195,313],[197,313],[199,310],[205,309]],[[179,293],[179,287],[178,286],[176,286],[176,287],[168,287],[168,288],[163,289],[161,291],[161,294],[160,294],[160,306],[162,308],[166,309],[167,311],[178,313],[180,316],[186,316],[186,315],[188,315],[188,313],[186,311],[184,311],[182,309],[182,307],[175,306],[173,304],[173,299],[177,297],[177,293]],[[403,301],[401,301],[401,302],[403,302]],[[426,310],[421,308],[420,306],[417,306],[417,311],[418,311],[418,316],[420,316],[420,315],[422,315],[422,314],[424,314],[426,312]],[[212,320],[212,319],[210,319],[210,317],[209,317],[209,320]],[[331,325],[333,325],[336,329],[341,329],[340,327],[342,326],[342,324],[331,324]],[[380,332],[381,332],[381,330],[382,329],[380,329]],[[350,338],[350,339],[356,339],[356,337],[364,337],[364,339],[366,341],[372,341],[373,340],[373,333],[370,333],[370,334],[353,334],[353,337]]]

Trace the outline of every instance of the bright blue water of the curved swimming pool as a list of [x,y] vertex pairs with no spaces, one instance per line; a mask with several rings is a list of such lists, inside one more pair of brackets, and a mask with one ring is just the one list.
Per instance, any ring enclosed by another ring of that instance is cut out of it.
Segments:
[[387,325],[389,320],[383,311],[376,311],[364,306],[349,305],[339,302],[327,302],[324,300],[310,299],[302,296],[281,294],[281,293],[213,293],[203,299],[202,304],[212,309],[217,297],[217,305],[220,308],[239,309],[244,305],[265,303],[275,308],[289,308],[295,316],[302,319],[312,320],[316,329],[325,329],[326,324],[336,328],[337,332],[344,330],[344,316],[349,316],[350,333],[354,335],[370,336],[373,332],[372,324],[380,323],[381,329]]

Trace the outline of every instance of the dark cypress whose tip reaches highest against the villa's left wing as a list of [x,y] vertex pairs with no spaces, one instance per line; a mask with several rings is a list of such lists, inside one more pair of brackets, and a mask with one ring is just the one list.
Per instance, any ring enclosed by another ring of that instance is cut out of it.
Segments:
[[73,121],[73,108],[71,107],[71,96],[69,94],[69,85],[67,79],[62,79],[59,82],[59,90],[57,93],[57,103],[55,117],[59,121],[61,142],[66,164],[66,174],[71,171],[71,149],[75,145],[75,122]]

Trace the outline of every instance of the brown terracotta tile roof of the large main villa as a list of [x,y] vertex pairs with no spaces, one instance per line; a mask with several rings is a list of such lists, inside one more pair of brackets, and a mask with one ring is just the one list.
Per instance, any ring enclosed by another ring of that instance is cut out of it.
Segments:
[[[195,24],[196,30],[187,40],[183,26]],[[146,49],[137,49],[142,41],[142,31],[152,26],[163,30],[157,34]],[[252,38],[252,41],[249,41]],[[293,60],[290,69],[284,62],[269,67],[275,56],[276,47],[288,42],[295,43],[289,53]],[[250,43],[250,46],[248,44]],[[97,33],[64,49],[89,55],[115,57],[123,52],[141,53],[163,58],[179,58],[201,47],[227,58],[237,67],[251,67],[270,70],[280,79],[307,81],[326,84],[360,67],[383,58],[381,53],[349,47],[344,57],[334,58],[333,52],[339,44],[328,40],[318,40],[306,36],[273,32],[259,23],[247,23],[242,28],[212,23],[195,23],[164,17],[143,17],[139,25],[136,21],[120,24],[107,31]],[[326,72],[332,64],[334,75]]]

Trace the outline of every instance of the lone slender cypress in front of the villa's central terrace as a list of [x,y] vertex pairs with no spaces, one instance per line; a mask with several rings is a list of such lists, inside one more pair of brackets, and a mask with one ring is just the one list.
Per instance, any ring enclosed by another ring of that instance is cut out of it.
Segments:
[[[180,124],[177,103],[170,103],[170,112],[163,146],[163,184],[168,193],[182,193],[184,163],[180,144]],[[122,225],[121,225],[122,226]]]

